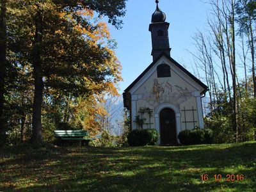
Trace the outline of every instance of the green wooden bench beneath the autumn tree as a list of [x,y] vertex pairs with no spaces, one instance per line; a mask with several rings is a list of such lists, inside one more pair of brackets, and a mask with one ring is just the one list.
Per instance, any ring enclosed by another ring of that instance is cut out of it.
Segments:
[[61,143],[61,145],[77,141],[81,142],[81,145],[88,145],[89,141],[93,140],[88,138],[90,134],[85,130],[56,130],[54,131],[54,136],[56,136],[58,143]]

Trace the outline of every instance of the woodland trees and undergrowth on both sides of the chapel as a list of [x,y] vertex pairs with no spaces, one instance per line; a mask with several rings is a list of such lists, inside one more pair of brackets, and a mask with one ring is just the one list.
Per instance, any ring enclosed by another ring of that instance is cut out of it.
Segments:
[[[56,129],[124,145],[129,113],[113,124],[122,67],[102,17],[120,28],[125,1],[1,0],[1,145],[53,142]],[[194,74],[209,87],[205,127],[215,143],[255,140],[256,1],[207,3],[209,28],[194,36],[191,51]]]

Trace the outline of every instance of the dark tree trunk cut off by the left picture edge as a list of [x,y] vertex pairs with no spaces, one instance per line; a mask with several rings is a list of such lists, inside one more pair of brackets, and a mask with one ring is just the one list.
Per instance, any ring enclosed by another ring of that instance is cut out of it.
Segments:
[[4,114],[4,79],[6,76],[6,0],[1,1],[0,13],[0,146],[6,138],[6,124]]

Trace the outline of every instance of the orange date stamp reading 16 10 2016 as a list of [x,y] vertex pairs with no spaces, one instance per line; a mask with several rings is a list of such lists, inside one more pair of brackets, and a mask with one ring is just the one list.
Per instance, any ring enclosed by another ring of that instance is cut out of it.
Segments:
[[[211,175],[208,175],[208,174],[200,175],[200,179],[202,181],[207,181],[207,180],[209,180],[210,177],[211,177]],[[212,178],[214,178],[214,180],[216,182],[220,182],[221,180],[225,180],[225,181],[235,181],[235,180],[242,181],[242,180],[244,180],[244,175],[243,174],[226,174],[226,175],[223,176],[221,174],[215,174],[215,175],[212,175]]]

